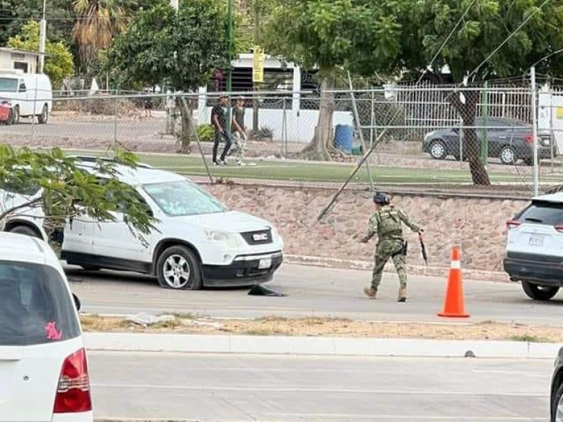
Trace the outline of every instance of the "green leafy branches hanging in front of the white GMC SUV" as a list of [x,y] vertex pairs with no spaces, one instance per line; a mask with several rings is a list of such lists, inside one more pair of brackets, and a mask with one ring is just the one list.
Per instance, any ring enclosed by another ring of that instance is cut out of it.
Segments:
[[[119,205],[135,234],[142,236],[154,229],[155,219],[148,205],[134,187],[118,179],[116,164],[137,165],[137,158],[131,153],[115,151],[115,161],[99,160],[94,166],[96,174],[92,174],[58,148],[42,152],[3,144],[0,163],[2,188],[27,198],[25,203],[1,209],[0,224],[17,210],[39,207],[45,216],[43,225],[49,243],[56,251],[60,251],[62,241],[53,240],[52,236],[63,231],[72,219],[88,215],[99,222],[115,221],[113,212]],[[6,204],[6,198],[0,199]]]

